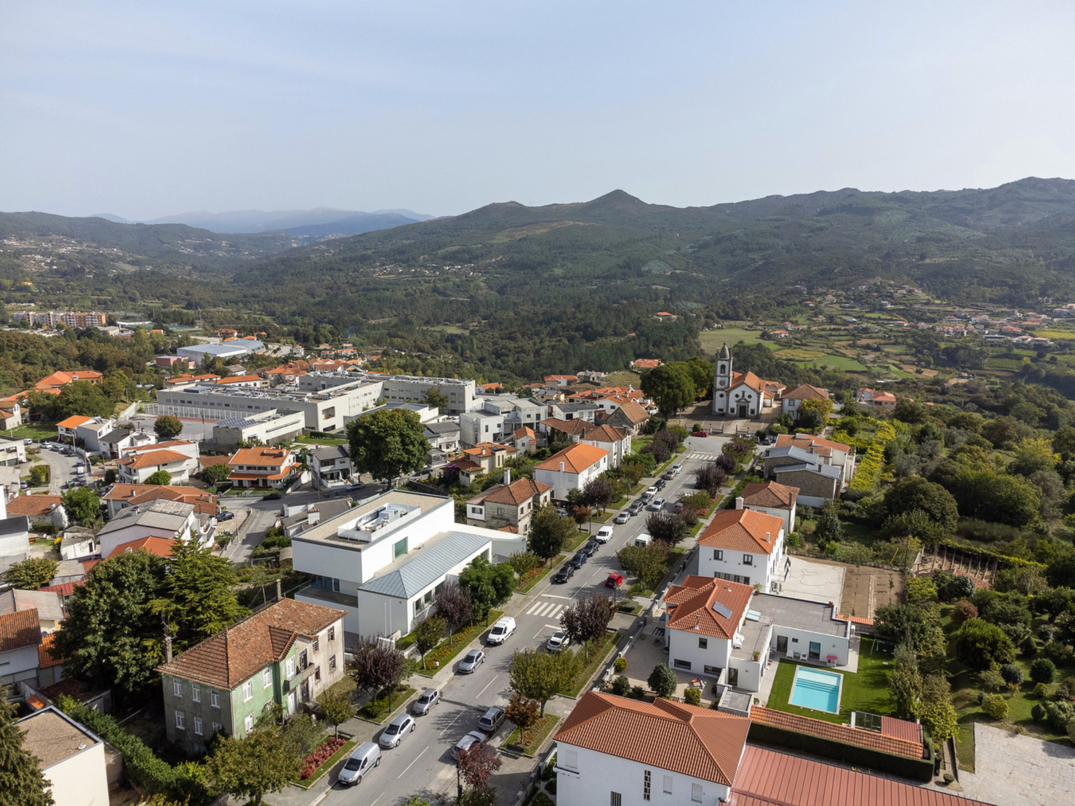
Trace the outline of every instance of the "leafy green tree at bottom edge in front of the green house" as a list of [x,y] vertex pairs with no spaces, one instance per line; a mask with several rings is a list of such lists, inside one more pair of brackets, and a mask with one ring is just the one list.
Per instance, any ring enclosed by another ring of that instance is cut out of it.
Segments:
[[205,776],[224,792],[253,798],[278,792],[299,775],[302,757],[271,728],[250,731],[246,738],[221,736],[205,760]]

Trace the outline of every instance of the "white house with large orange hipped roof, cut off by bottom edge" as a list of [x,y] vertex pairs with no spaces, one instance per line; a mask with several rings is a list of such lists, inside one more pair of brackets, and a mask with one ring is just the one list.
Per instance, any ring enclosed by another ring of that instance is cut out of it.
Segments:
[[727,803],[750,720],[587,691],[556,734],[559,806]]

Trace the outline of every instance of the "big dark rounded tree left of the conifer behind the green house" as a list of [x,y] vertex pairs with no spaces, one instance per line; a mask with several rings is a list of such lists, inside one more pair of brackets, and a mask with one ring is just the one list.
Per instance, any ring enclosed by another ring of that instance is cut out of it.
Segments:
[[148,551],[98,563],[86,584],[75,586],[55,633],[64,670],[101,688],[133,692],[148,683],[163,661],[163,625],[149,609],[163,579],[164,560]]

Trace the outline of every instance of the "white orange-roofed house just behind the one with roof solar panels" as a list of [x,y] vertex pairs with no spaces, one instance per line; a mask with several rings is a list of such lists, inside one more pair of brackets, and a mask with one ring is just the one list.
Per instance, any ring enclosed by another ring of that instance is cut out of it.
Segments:
[[721,509],[698,545],[700,575],[769,590],[784,560],[784,520],[754,509]]

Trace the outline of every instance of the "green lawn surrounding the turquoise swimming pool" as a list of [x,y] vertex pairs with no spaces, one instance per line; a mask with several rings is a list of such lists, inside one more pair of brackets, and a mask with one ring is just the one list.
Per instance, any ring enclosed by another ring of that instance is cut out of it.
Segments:
[[[873,645],[873,639],[862,639],[858,673],[841,672],[834,668],[827,670],[844,676],[843,691],[840,696],[840,714],[802,708],[788,703],[796,667],[819,668],[815,664],[796,663],[788,660],[782,660],[776,668],[773,690],[769,695],[769,707],[788,714],[821,719],[826,722],[845,724],[850,722],[852,710],[864,710],[888,717],[895,716],[892,690],[888,686],[888,676],[892,672],[892,656],[884,651],[874,652]],[[885,665],[886,661],[888,662],[887,666]]]

